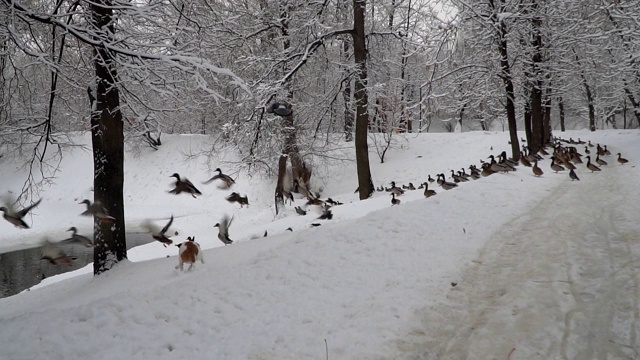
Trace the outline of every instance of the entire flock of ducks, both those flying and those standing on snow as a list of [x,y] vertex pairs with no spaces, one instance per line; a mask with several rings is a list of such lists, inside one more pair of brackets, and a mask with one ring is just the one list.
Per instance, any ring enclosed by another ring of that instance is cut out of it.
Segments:
[[[524,142],[524,140],[523,140]],[[547,151],[548,147],[553,148],[553,152],[549,154]],[[584,147],[583,155],[578,149]],[[491,149],[493,150],[493,148]],[[519,165],[524,167],[530,167],[533,175],[535,177],[540,177],[544,174],[542,168],[538,165],[538,162],[543,160],[543,156],[551,155],[551,163],[549,165],[549,169],[555,173],[569,170],[569,177],[572,181],[579,181],[578,175],[576,173],[576,166],[579,164],[583,164],[584,161],[582,158],[586,158],[586,169],[595,172],[601,171],[601,166],[606,166],[608,163],[603,160],[601,157],[611,155],[611,152],[607,149],[607,146],[601,146],[600,144],[593,145],[591,141],[584,142],[580,139],[578,140],[565,140],[561,138],[554,138],[553,142],[550,144],[546,144],[546,146],[542,147],[537,153],[531,153],[528,151],[527,146],[523,146],[523,149],[520,153],[520,159],[518,161],[514,161],[511,158],[507,157],[505,151],[502,151],[498,156],[490,155],[487,159],[490,161],[480,160],[481,167],[477,168],[475,165],[470,165],[468,167],[469,172],[467,172],[466,168],[461,168],[459,171],[450,170],[450,178],[451,181],[448,181],[444,173],[439,173],[436,175],[436,179],[432,178],[431,175],[428,176],[427,181],[424,181],[420,184],[418,188],[416,188],[413,183],[409,182],[407,185],[397,186],[394,181],[390,183],[390,187],[380,186],[376,188],[376,191],[386,191],[391,195],[391,205],[399,205],[401,203],[400,197],[406,191],[412,191],[417,189],[424,189],[425,198],[429,198],[435,196],[437,193],[435,190],[429,188],[430,183],[437,183],[444,190],[451,190],[453,188],[458,187],[458,184],[467,182],[470,180],[477,180],[481,177],[490,176],[495,173],[509,173],[511,171],[516,171],[516,168]],[[595,155],[594,162],[591,161],[591,156]],[[628,162],[627,159],[622,157],[621,153],[617,153],[617,162],[621,165],[624,165]],[[234,184],[235,180],[226,175],[217,168],[214,170],[217,172],[215,176],[210,178],[209,180],[203,182],[203,184],[209,184],[212,182],[218,182],[218,187],[221,189],[230,189]],[[185,177],[181,177],[178,173],[174,173],[170,177],[174,177],[175,183],[173,184],[173,189],[169,190],[169,193],[179,195],[179,194],[187,194],[194,198],[198,195],[202,195],[202,192],[196,188],[196,186],[189,181]],[[333,213],[331,212],[331,208],[336,205],[341,205],[339,201],[334,201],[331,198],[326,200],[320,199],[319,194],[314,194],[309,191],[305,186],[299,184],[297,181],[294,181],[294,192],[300,193],[304,198],[306,198],[306,207],[317,205],[321,209],[321,215],[317,218],[319,220],[331,220],[333,218]],[[357,192],[357,190],[356,190]],[[291,200],[293,202],[293,195],[290,192],[285,192],[285,198]],[[249,200],[247,196],[241,196],[237,192],[232,192],[229,196],[226,197],[226,200],[231,203],[238,203],[240,207],[249,206]],[[31,205],[17,210],[14,209],[12,201],[6,201],[5,206],[0,207],[0,212],[3,212],[3,218],[13,224],[14,226],[22,229],[29,229],[27,223],[24,222],[23,218],[35,207],[37,207],[42,199],[32,203]],[[109,215],[108,211],[105,209],[102,204],[99,202],[91,203],[91,201],[85,199],[81,201],[79,204],[85,204],[86,209],[80,215],[82,216],[93,216],[94,218],[99,219],[102,222],[113,222],[115,219]],[[298,215],[307,215],[308,210],[303,209],[301,206],[296,206],[295,211]],[[171,245],[173,240],[170,239],[170,235],[168,235],[169,228],[173,224],[173,215],[169,219],[169,221],[163,226],[159,228],[150,220],[146,220],[143,222],[143,227],[151,234],[154,240],[159,241],[164,246]],[[233,222],[233,217],[229,218],[228,215],[225,215],[220,222],[216,223],[214,227],[218,228],[218,239],[225,245],[229,245],[233,243],[233,240],[229,237],[229,228]],[[320,226],[320,223],[311,223],[311,226]],[[286,230],[293,231],[291,228]],[[51,242],[48,239],[43,241],[41,245],[42,249],[42,257],[41,260],[46,260],[54,265],[71,265],[76,257],[66,255],[61,249],[59,245],[78,245],[83,247],[93,247],[95,244],[93,241],[86,236],[78,234],[78,231],[75,227],[69,228],[67,231],[70,231],[72,234],[68,239],[59,241],[59,242]],[[177,235],[177,232],[175,233]],[[267,236],[267,232],[265,231],[263,236]],[[193,241],[193,238],[189,238],[190,241]],[[177,244],[180,246],[181,244]]]

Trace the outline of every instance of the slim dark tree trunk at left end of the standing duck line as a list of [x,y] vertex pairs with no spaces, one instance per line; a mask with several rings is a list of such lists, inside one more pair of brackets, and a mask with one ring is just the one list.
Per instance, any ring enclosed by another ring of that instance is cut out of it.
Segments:
[[364,32],[365,0],[353,0],[353,55],[358,69],[355,80],[354,100],[356,102],[356,163],[358,169],[358,189],[360,200],[369,198],[373,194],[371,168],[369,166],[369,144],[367,142],[367,128],[369,114],[367,113],[367,48]]

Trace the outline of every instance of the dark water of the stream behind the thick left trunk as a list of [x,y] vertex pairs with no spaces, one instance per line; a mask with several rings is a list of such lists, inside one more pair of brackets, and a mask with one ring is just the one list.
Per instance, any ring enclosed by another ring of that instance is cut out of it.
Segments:
[[[154,241],[147,233],[127,233],[127,250]],[[17,250],[0,254],[0,298],[15,295],[53,275],[85,267],[93,262],[93,248],[78,245],[59,245],[62,251],[78,259],[71,266],[52,265],[40,260],[40,248]]]

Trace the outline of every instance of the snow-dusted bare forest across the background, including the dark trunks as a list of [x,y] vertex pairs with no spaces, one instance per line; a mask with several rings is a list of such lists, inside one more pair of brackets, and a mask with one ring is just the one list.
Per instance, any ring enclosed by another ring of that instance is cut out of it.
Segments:
[[536,151],[637,128],[638,19],[633,0],[0,0],[0,157],[46,179],[92,132],[95,198],[121,224],[96,222],[100,273],[126,257],[128,140],[211,134],[280,176],[353,146],[366,199],[369,133],[510,131],[517,158],[516,130]]

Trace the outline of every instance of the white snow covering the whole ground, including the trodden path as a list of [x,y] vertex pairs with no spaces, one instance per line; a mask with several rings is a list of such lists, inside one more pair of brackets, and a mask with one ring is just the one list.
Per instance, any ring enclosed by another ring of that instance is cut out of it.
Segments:
[[[274,178],[239,172],[229,191],[201,184],[210,169],[226,170],[223,160],[187,161],[207,138],[167,135],[158,151],[126,158],[127,228],[173,214],[174,240],[195,235],[205,263],[179,272],[178,249],[153,242],[98,277],[89,266],[0,299],[0,358],[637,357],[640,133],[555,135],[607,144],[630,162],[607,156],[597,173],[578,165],[577,182],[545,159],[541,178],[520,166],[449,191],[431,185],[438,194],[429,199],[409,191],[393,207],[387,192],[359,201],[355,164],[342,162],[314,173],[323,197],[344,203],[333,220],[293,206],[274,216]],[[448,177],[510,148],[503,132],[396,137],[384,164],[371,153],[375,186],[417,187],[428,174]],[[8,174],[0,193],[21,186],[12,166],[0,162]],[[27,221],[32,229],[0,223],[3,250],[62,239],[69,226],[90,230],[77,203],[92,198],[91,154],[69,150],[61,166]],[[168,194],[173,172],[203,196]],[[230,191],[246,194],[250,207],[226,202]],[[235,216],[229,246],[213,227],[224,214]]]

